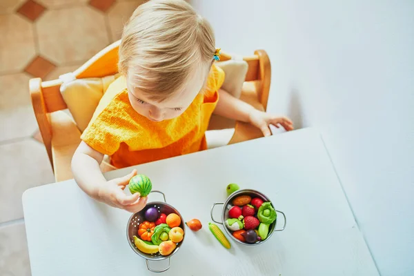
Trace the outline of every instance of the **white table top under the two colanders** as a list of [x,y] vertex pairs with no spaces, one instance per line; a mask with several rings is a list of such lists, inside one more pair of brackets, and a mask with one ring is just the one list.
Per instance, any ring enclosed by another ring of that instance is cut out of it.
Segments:
[[[323,141],[313,129],[136,168],[184,219],[198,218],[204,225],[198,233],[186,231],[164,275],[378,275]],[[230,182],[270,197],[286,213],[286,230],[261,246],[232,241],[231,250],[222,247],[207,225],[210,207],[224,201]],[[150,199],[160,200],[158,195]],[[23,209],[33,276],[152,275],[126,240],[131,214],[90,199],[75,181],[27,190]],[[165,265],[161,261],[153,267]]]

